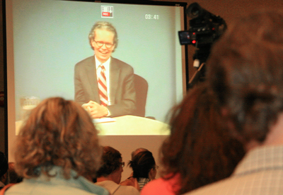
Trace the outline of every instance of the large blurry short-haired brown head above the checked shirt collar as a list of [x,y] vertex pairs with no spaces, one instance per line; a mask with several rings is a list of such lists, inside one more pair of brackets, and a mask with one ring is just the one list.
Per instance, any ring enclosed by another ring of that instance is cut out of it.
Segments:
[[214,45],[207,79],[232,133],[262,143],[283,111],[283,13],[258,11],[229,26]]

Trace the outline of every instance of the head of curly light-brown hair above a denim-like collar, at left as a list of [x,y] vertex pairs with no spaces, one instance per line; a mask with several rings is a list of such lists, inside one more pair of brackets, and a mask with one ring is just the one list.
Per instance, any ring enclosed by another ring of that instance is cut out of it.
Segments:
[[45,99],[31,111],[18,135],[16,172],[39,177],[52,167],[62,167],[65,179],[71,170],[77,176],[96,177],[101,150],[98,135],[88,113],[74,101]]

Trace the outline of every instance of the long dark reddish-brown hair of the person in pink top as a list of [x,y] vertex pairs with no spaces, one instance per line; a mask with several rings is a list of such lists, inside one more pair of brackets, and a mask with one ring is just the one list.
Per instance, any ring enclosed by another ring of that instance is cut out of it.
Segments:
[[244,155],[241,143],[222,125],[219,104],[205,83],[173,109],[170,123],[161,159],[165,179],[180,175],[176,194],[229,177]]

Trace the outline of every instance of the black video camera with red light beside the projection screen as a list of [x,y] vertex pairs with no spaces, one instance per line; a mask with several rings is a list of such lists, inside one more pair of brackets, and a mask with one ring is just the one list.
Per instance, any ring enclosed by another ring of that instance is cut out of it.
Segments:
[[[196,79],[204,77],[204,62],[209,57],[210,49],[226,30],[227,26],[220,16],[216,16],[203,9],[199,4],[192,3],[186,10],[190,19],[189,30],[179,31],[180,45],[194,45],[196,50],[193,56],[194,67],[198,68],[194,77],[189,82],[189,87],[196,82]],[[201,72],[202,70],[202,72]]]

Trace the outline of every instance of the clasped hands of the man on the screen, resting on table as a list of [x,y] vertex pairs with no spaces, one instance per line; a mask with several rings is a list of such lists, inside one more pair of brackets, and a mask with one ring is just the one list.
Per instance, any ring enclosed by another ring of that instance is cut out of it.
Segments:
[[82,105],[88,111],[92,118],[102,118],[108,115],[108,108],[101,106],[96,101],[88,101]]

